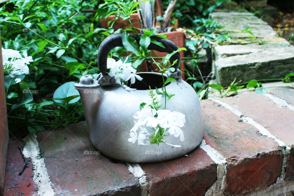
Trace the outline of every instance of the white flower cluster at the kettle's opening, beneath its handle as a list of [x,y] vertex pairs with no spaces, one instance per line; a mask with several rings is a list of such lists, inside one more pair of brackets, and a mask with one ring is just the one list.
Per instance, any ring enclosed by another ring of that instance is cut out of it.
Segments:
[[134,84],[136,79],[141,81],[143,78],[135,74],[137,70],[131,63],[126,63],[127,60],[128,57],[124,62],[120,59],[115,61],[113,58],[107,58],[107,68],[110,69],[108,74],[115,78],[115,83],[122,85],[126,90],[136,90],[126,86],[126,82],[131,80],[131,84]]

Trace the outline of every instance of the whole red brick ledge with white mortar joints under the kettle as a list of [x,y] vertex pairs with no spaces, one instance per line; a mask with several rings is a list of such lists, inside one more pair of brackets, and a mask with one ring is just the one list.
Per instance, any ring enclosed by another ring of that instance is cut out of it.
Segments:
[[[290,195],[292,89],[202,100],[202,143],[177,159],[124,163],[92,146],[85,122],[10,138],[4,195]],[[28,166],[17,146],[25,146]],[[111,147],[111,146],[110,146]]]

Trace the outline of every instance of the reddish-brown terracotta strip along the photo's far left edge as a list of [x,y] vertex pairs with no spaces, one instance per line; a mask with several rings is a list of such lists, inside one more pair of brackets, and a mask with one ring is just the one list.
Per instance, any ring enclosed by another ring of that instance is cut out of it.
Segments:
[[[0,47],[1,47],[1,35],[0,35]],[[0,195],[2,195],[4,189],[5,178],[5,166],[6,166],[6,154],[9,140],[7,115],[6,115],[6,96],[4,87],[4,74],[3,74],[3,62],[2,51],[0,50]]]

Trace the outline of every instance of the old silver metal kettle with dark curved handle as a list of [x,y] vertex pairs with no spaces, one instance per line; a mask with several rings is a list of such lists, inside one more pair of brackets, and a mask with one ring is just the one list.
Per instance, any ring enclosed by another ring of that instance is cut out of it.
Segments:
[[[130,34],[139,44],[139,37]],[[178,47],[170,40],[152,37],[161,42],[165,48],[151,43],[150,50],[171,53]],[[182,156],[196,148],[203,137],[203,122],[200,102],[197,93],[185,81],[182,80],[182,72],[178,70],[179,52],[171,57],[171,62],[178,59],[175,72],[168,72],[164,77],[173,77],[166,85],[169,94],[175,94],[167,101],[166,109],[178,111],[185,115],[186,123],[182,127],[185,140],[166,137],[166,142],[181,145],[174,146],[160,143],[159,145],[138,145],[128,141],[130,130],[134,126],[134,114],[140,111],[140,104],[150,100],[149,86],[159,89],[162,86],[160,73],[142,72],[136,73],[143,77],[142,81],[136,81],[131,88],[135,91],[126,91],[121,85],[115,84],[115,79],[106,73],[107,56],[114,47],[123,47],[122,34],[108,36],[98,49],[97,63],[101,71],[98,78],[90,75],[81,77],[74,85],[79,91],[82,101],[85,119],[92,144],[102,154],[128,162],[158,162]],[[164,95],[158,95],[159,101],[164,103]]]

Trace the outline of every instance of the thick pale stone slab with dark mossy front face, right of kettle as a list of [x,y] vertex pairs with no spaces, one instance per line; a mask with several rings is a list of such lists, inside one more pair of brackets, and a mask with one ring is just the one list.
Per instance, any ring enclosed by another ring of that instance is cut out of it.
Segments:
[[294,70],[294,47],[277,44],[247,44],[215,47],[217,83],[284,78]]

